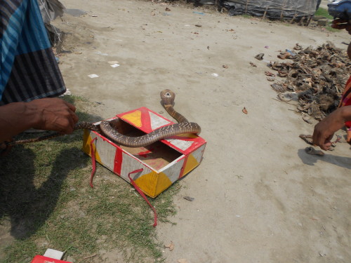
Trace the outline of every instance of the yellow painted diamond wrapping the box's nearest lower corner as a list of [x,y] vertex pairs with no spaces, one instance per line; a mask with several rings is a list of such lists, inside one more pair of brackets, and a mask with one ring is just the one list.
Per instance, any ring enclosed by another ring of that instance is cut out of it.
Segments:
[[156,173],[154,171],[140,176],[134,182],[135,184],[138,184],[138,187],[140,187],[140,189],[143,189],[145,194],[150,197],[156,197],[172,184],[167,175],[164,173]]

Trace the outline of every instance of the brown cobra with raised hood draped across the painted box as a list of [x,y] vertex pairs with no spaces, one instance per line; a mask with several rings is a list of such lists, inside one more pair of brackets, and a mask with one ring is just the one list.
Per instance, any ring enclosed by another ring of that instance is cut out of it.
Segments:
[[[154,142],[157,142],[158,140],[164,139],[166,137],[171,137],[174,135],[179,135],[184,133],[197,134],[201,132],[201,128],[199,124],[187,121],[187,119],[182,114],[176,112],[176,110],[173,109],[173,103],[176,97],[175,93],[173,93],[171,90],[162,90],[160,93],[160,96],[161,96],[161,102],[164,106],[164,109],[166,109],[168,114],[170,114],[174,119],[176,119],[178,123],[171,124],[168,126],[163,126],[161,128],[158,128],[157,130],[152,131],[151,133],[147,133],[146,135],[139,136],[139,137],[130,137],[130,136],[122,135],[111,126],[110,121],[101,121],[100,126],[97,126],[97,125],[94,125],[93,123],[88,123],[88,122],[79,122],[74,127],[74,130],[79,130],[79,129],[94,130],[98,133],[103,133],[113,142],[116,142],[118,144],[122,144],[128,147],[144,147]],[[14,145],[14,144],[25,144],[29,142],[39,142],[41,140],[48,140],[60,135],[61,135],[60,133],[53,133],[51,135],[44,135],[34,139],[9,142],[8,144]]]

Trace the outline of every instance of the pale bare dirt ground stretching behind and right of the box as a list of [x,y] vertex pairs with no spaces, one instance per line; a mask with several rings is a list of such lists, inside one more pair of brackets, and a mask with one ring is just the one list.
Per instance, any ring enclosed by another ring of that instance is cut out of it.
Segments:
[[201,165],[180,182],[176,225],[157,226],[159,241],[175,245],[164,250],[166,262],[351,262],[350,145],[306,154],[298,135],[313,125],[274,100],[264,74],[296,43],[346,49],[346,32],[152,1],[62,3],[87,12],[53,22],[69,33],[63,49],[72,53],[59,59],[72,94],[105,119],[138,107],[165,112],[159,91],[169,88],[208,142]]

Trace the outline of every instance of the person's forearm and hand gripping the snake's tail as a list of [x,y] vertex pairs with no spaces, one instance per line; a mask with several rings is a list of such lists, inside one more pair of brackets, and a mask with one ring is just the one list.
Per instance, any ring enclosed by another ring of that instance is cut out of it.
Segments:
[[74,105],[58,98],[14,102],[0,107],[0,142],[29,128],[72,133],[78,116]]

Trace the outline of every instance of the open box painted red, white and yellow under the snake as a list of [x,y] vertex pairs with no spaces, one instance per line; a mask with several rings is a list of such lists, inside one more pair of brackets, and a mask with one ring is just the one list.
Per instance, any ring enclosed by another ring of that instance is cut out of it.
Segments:
[[[173,124],[172,121],[145,107],[131,112],[117,114],[108,119],[119,133],[128,136],[143,135],[157,128]],[[98,123],[95,123],[98,124]],[[92,130],[84,130],[83,151],[91,156],[91,140],[95,140],[95,159],[102,166],[112,170],[127,182],[128,174],[135,184],[152,198],[199,166],[204,154],[206,141],[194,134],[168,137],[146,147],[125,147]]]

